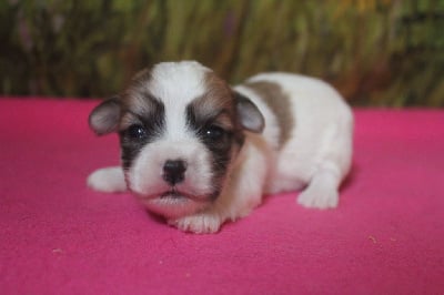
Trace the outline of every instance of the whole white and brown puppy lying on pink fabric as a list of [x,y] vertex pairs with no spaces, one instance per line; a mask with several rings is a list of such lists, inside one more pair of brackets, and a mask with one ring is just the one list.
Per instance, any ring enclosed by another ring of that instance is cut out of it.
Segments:
[[122,162],[93,172],[89,186],[128,190],[185,232],[215,233],[263,194],[303,189],[301,205],[335,207],[351,166],[351,109],[326,83],[290,73],[230,88],[198,62],[159,63],[89,123],[119,133]]

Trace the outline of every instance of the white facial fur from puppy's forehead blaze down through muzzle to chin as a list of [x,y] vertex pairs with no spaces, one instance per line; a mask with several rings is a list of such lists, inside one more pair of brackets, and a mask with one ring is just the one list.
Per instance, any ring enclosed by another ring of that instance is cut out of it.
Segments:
[[[165,133],[154,143],[142,149],[128,172],[131,191],[151,211],[169,218],[189,215],[205,204],[200,197],[212,189],[209,155],[202,143],[186,128],[185,108],[194,99],[204,94],[204,72],[210,71],[196,62],[162,63],[152,69],[152,81],[147,85],[151,94],[162,98],[165,106]],[[170,187],[162,180],[162,167],[167,160],[182,159],[188,163],[185,181],[176,189],[193,200],[153,199]],[[165,212],[168,207],[168,212]]]

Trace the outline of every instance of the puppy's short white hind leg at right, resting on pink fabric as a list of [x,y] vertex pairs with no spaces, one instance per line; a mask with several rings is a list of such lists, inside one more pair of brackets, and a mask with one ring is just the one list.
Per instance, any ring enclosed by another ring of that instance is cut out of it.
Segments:
[[336,207],[341,179],[334,166],[321,166],[314,173],[309,186],[299,195],[297,203],[305,207]]

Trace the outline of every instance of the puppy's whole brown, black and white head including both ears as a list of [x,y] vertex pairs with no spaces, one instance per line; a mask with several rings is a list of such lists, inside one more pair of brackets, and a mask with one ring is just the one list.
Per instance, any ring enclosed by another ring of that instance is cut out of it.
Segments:
[[196,62],[159,63],[98,105],[90,126],[118,132],[128,187],[169,218],[203,210],[221,194],[244,141],[263,116]]

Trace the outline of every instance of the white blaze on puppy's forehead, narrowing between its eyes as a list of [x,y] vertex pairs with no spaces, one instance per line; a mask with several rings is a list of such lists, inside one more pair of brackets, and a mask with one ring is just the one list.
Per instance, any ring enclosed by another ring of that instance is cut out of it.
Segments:
[[167,134],[170,139],[182,139],[186,129],[186,106],[202,96],[205,89],[205,73],[211,70],[193,61],[164,62],[151,71],[149,89],[151,94],[165,106]]

